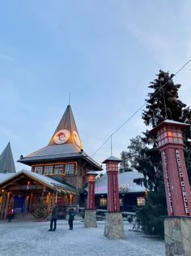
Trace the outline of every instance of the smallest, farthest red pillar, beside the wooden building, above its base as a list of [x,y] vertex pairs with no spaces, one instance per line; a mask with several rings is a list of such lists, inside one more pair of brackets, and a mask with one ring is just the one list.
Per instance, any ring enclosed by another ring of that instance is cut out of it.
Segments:
[[87,172],[87,210],[95,210],[95,182],[96,172]]

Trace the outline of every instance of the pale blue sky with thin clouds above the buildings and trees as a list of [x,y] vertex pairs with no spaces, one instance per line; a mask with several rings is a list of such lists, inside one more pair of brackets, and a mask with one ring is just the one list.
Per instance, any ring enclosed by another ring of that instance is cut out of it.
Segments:
[[[87,154],[120,158],[146,130],[138,109],[159,69],[191,59],[190,9],[189,0],[1,2],[0,154],[10,141],[16,170],[30,170],[16,161],[48,145],[70,98]],[[174,78],[188,106],[190,69]],[[111,153],[104,141],[115,131]]]

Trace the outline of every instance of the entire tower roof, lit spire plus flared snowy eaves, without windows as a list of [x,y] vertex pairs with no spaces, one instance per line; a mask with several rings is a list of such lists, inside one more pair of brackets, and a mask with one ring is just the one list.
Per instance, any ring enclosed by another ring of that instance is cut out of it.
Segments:
[[66,107],[60,123],[57,125],[49,145],[44,148],[21,157],[18,162],[31,166],[35,163],[81,158],[91,163],[95,170],[102,170],[99,163],[96,163],[87,153],[83,151],[83,145],[79,138],[79,132],[74,121],[71,106]]

